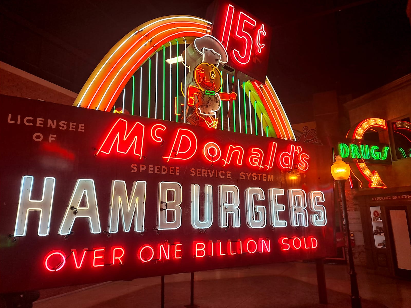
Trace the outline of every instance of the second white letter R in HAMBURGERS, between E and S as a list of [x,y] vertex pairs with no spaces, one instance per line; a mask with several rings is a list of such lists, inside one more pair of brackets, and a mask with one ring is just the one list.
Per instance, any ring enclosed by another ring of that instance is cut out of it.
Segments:
[[307,198],[302,189],[289,189],[290,221],[293,227],[308,227]]

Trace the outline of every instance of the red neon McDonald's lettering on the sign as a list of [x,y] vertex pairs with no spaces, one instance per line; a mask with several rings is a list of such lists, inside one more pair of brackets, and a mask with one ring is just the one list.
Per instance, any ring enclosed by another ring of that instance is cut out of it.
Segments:
[[[146,134],[149,136],[145,136]],[[160,123],[146,127],[140,122],[129,124],[124,119],[118,119],[113,124],[109,133],[103,138],[95,156],[115,151],[121,154],[134,153],[141,159],[144,156],[145,143],[148,142],[146,139],[149,138],[152,142],[162,146],[163,138],[170,135],[174,136],[173,144],[165,149],[166,152],[162,156],[167,162],[189,161],[201,149],[199,152],[205,162],[215,165],[220,163],[222,167],[241,166],[245,163],[250,168],[268,171],[274,167],[274,162],[276,162],[278,168],[283,170],[296,167],[301,171],[306,171],[309,168],[310,156],[303,152],[300,145],[289,144],[287,150],[279,152],[278,155],[276,155],[276,142],[271,142],[265,151],[260,147],[250,147],[247,151],[236,144],[228,144],[223,147],[223,145],[212,141],[201,145],[196,134],[190,129],[179,128],[170,134],[166,126]]]

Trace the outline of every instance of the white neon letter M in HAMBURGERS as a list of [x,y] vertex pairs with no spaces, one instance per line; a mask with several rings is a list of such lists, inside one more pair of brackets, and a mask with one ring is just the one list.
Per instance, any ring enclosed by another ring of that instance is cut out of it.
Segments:
[[135,217],[134,231],[144,231],[146,186],[147,182],[145,181],[134,181],[129,199],[126,182],[116,180],[112,182],[109,233],[118,232],[120,209],[124,232],[130,231],[133,216]]

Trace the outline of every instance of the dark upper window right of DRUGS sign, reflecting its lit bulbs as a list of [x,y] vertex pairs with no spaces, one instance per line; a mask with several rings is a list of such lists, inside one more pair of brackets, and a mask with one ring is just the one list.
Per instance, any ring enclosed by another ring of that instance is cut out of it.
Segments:
[[411,157],[411,123],[410,118],[392,122],[393,142],[396,160]]

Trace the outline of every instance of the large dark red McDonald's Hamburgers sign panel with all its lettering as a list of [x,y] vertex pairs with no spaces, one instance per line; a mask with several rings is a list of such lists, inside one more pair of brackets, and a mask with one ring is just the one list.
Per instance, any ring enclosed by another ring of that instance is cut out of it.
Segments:
[[0,98],[0,292],[334,254],[327,147]]

